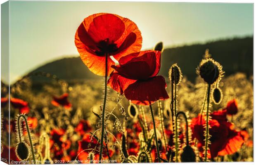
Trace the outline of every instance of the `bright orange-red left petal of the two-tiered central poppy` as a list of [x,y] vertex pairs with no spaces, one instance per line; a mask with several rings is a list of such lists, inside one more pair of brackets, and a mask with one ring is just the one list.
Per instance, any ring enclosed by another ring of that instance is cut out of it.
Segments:
[[124,78],[118,73],[112,72],[107,82],[107,85],[110,86],[116,92],[123,94],[123,91],[126,90],[126,88],[134,82],[136,82],[136,80]]

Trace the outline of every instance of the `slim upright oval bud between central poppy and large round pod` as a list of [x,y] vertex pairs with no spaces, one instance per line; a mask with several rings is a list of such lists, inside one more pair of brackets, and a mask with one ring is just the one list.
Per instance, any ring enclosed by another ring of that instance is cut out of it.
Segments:
[[182,80],[182,73],[177,64],[173,64],[169,70],[169,79],[172,84],[179,85]]

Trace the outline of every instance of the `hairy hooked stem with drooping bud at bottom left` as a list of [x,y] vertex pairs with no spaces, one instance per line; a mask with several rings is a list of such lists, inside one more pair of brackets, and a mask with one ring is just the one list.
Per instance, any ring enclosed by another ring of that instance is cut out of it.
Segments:
[[35,153],[34,153],[34,149],[33,149],[33,143],[32,143],[32,139],[31,139],[31,135],[30,135],[30,130],[29,130],[29,127],[28,127],[28,121],[27,121],[27,118],[25,115],[21,114],[19,115],[18,119],[17,119],[17,124],[18,124],[18,132],[19,132],[19,140],[21,142],[21,118],[24,119],[25,121],[25,124],[26,124],[26,130],[27,130],[27,133],[28,133],[28,139],[29,139],[29,143],[30,143],[30,147],[31,147],[31,153],[32,153],[32,157],[33,157],[33,164],[36,164],[36,158],[35,158]]

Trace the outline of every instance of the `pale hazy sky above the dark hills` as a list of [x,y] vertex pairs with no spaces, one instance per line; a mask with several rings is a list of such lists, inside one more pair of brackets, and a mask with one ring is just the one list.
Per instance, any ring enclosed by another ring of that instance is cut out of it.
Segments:
[[253,4],[11,1],[11,82],[47,61],[78,55],[76,29],[98,12],[134,21],[142,49],[159,41],[169,47],[253,34]]

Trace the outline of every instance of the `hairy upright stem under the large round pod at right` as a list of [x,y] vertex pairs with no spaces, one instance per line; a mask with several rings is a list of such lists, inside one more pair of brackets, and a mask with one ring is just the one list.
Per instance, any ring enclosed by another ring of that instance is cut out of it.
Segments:
[[207,90],[207,107],[206,107],[206,136],[205,136],[205,153],[204,153],[204,161],[207,160],[207,153],[208,153],[208,141],[209,141],[209,104],[210,104],[210,91],[211,85],[208,84]]

